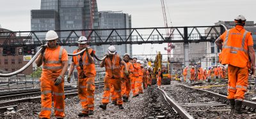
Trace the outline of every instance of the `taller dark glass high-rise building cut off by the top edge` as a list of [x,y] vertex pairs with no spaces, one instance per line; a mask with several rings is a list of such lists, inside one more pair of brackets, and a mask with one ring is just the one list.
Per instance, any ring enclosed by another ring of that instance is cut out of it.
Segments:
[[[41,0],[40,10],[31,10],[31,31],[99,29],[99,15],[96,0]],[[70,32],[57,32],[61,41]],[[36,32],[40,41],[46,32]],[[88,32],[76,32],[77,36],[87,36]],[[68,42],[76,42],[76,34],[71,34]],[[64,46],[72,53],[77,46]]]

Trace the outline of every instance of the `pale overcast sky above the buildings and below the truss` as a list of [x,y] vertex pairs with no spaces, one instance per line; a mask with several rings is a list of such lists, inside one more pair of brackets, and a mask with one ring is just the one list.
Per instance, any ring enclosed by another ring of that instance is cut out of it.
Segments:
[[[97,0],[99,11],[123,11],[132,15],[132,27],[164,27],[160,0]],[[173,26],[214,25],[241,14],[256,20],[255,0],[166,0],[168,24]],[[0,24],[12,31],[30,31],[30,10],[40,10],[40,0],[0,0]],[[163,45],[134,45],[134,54],[164,51]],[[141,50],[141,48],[143,48]]]

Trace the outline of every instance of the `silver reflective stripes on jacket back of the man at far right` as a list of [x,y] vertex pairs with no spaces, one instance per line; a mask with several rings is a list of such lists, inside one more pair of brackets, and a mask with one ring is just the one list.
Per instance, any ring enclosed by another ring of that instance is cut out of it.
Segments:
[[[244,49],[245,38],[246,38],[246,34],[248,33],[248,31],[244,31],[243,39],[242,39],[242,44],[241,44],[240,48],[234,47],[234,46],[227,46],[229,31],[230,30],[227,31],[225,42],[223,43],[222,48],[227,48],[227,49],[230,49],[230,50],[238,50],[238,51],[242,51],[242,52],[248,53],[248,50]],[[232,51],[231,53],[237,53],[237,52],[236,51]]]

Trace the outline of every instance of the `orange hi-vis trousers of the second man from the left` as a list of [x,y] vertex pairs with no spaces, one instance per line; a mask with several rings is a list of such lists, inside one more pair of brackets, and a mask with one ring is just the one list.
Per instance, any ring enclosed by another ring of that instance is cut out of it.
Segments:
[[94,109],[95,77],[78,79],[78,96],[82,105],[82,113]]

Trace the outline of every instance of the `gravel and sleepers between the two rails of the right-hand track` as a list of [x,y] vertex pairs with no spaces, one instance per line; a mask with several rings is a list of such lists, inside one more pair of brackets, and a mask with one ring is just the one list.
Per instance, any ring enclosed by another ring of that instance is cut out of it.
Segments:
[[[164,90],[170,95],[188,113],[195,118],[256,118],[255,113],[234,115],[230,116],[229,111],[221,111],[221,109],[230,109],[228,105],[225,106],[207,106],[207,107],[187,107],[191,103],[204,103],[204,102],[219,102],[218,99],[211,97],[207,94],[197,94],[193,90],[184,90],[184,88],[177,86],[178,81],[172,81],[171,85],[163,87]],[[168,87],[168,88],[167,88]],[[214,88],[216,90],[216,88]],[[216,109],[212,111],[212,109]]]

